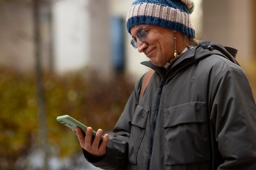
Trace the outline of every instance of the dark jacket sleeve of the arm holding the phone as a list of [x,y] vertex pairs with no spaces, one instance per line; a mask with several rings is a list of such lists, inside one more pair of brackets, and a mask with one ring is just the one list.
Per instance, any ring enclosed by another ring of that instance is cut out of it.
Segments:
[[92,163],[92,165],[104,170],[126,169],[131,121],[138,103],[142,79],[143,77],[135,84],[134,91],[128,99],[124,111],[114,127],[113,137],[108,142],[105,157],[103,159],[96,159],[83,150],[85,159]]

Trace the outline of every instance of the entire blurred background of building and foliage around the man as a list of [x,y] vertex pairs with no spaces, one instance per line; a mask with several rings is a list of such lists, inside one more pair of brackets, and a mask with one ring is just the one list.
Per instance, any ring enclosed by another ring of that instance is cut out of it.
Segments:
[[[0,0],[0,170],[98,169],[56,117],[111,134],[148,70],[126,31],[132,2]],[[238,49],[255,98],[255,0],[195,4],[196,38]]]

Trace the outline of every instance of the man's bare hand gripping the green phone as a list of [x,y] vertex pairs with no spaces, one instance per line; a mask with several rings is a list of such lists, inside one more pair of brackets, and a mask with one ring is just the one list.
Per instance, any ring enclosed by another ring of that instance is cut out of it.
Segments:
[[81,147],[85,149],[87,152],[89,152],[91,155],[93,155],[94,157],[103,157],[106,154],[106,146],[108,144],[108,139],[109,139],[108,134],[104,135],[103,140],[99,145],[103,130],[98,129],[94,140],[92,140],[91,127],[87,128],[85,135],[82,132],[81,128],[76,128],[76,131],[73,130],[73,132],[78,137]]

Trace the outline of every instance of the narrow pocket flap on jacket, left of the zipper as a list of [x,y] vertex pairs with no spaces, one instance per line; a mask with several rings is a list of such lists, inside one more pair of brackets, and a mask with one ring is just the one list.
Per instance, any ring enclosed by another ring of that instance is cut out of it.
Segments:
[[140,128],[146,128],[148,119],[148,109],[137,105],[135,113],[132,118],[132,124]]

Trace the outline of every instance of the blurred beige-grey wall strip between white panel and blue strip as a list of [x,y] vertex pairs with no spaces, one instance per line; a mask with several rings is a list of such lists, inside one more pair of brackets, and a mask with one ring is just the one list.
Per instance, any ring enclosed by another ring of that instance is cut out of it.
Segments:
[[109,5],[108,0],[90,0],[90,45],[89,66],[99,70],[102,78],[113,75],[110,55]]

